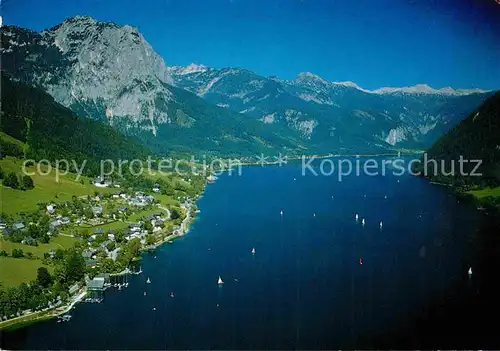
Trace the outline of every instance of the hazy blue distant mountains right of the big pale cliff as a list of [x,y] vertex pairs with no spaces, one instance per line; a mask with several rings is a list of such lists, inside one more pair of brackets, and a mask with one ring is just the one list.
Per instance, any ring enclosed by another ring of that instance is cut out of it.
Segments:
[[370,91],[308,72],[281,80],[194,64],[169,71],[176,86],[262,123],[285,124],[320,147],[363,139],[380,147],[424,148],[491,95],[427,85]]

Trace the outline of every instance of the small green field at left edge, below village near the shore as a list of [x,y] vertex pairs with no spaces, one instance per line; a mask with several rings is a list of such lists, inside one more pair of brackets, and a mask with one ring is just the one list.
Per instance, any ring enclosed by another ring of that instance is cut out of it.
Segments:
[[[37,269],[44,266],[40,260],[0,257],[0,282],[4,287],[17,286],[36,279]],[[52,267],[47,267],[52,272]]]

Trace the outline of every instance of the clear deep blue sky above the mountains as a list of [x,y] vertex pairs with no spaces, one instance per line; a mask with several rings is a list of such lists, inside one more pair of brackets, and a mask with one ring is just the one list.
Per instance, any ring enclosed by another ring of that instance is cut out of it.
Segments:
[[[498,0],[500,1],[500,0]],[[167,65],[313,72],[373,89],[500,89],[496,0],[3,0],[4,24],[74,15],[138,27]]]

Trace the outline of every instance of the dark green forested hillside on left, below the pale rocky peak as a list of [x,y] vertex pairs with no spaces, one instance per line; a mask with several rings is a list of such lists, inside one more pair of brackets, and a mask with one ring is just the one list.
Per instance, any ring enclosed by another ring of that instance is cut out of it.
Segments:
[[15,82],[2,73],[0,129],[23,142],[2,138],[2,155],[40,160],[87,160],[88,173],[99,169],[102,159],[146,158],[149,150],[109,126],[78,118],[44,91]]

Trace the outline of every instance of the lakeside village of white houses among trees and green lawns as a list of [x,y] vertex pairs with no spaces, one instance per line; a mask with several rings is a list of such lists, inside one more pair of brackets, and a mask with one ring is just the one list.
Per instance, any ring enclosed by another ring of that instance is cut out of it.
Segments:
[[[76,302],[101,302],[107,288],[127,287],[127,275],[141,273],[136,264],[140,252],[154,250],[165,242],[173,243],[186,233],[197,212],[195,201],[199,195],[189,196],[182,190],[167,194],[162,185],[125,190],[97,177],[93,181],[94,195],[40,203],[34,213],[2,216],[0,255],[26,262],[40,259],[49,271],[57,272],[67,251],[76,251],[78,260],[83,260],[84,276],[35,308],[0,316],[0,323],[48,311],[50,315],[60,315]],[[43,253],[38,250],[63,238],[71,240],[72,247],[51,248]],[[4,248],[9,245],[16,248],[7,252]]]

